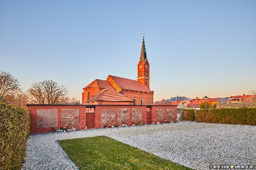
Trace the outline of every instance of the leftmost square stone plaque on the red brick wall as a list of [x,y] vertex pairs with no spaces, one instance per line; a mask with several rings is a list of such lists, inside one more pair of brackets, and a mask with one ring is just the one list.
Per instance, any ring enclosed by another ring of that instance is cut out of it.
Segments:
[[58,126],[58,109],[37,109],[36,127],[51,128]]

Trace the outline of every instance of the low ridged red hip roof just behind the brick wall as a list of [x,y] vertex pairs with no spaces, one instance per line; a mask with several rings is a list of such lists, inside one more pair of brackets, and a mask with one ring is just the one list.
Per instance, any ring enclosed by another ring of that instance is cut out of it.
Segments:
[[99,94],[93,97],[90,101],[131,101],[131,99],[117,92],[111,87],[102,89]]

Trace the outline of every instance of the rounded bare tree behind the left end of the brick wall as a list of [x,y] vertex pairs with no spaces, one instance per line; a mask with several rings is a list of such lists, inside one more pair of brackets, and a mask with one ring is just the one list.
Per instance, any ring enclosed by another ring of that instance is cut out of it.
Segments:
[[57,82],[45,80],[32,84],[28,93],[35,104],[57,104],[60,103],[62,97],[67,95],[68,91],[64,86],[59,86]]

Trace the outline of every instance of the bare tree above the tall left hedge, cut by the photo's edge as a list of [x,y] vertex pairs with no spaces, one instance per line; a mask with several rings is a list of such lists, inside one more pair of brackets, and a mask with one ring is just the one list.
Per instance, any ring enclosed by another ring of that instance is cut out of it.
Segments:
[[0,70],[0,101],[6,101],[6,96],[20,91],[19,81],[11,73]]

